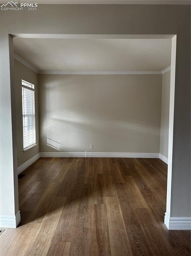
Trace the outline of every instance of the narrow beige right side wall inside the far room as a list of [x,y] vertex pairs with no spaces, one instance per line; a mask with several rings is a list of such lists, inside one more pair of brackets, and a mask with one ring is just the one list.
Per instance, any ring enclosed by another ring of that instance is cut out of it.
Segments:
[[160,154],[168,158],[170,71],[162,75]]

